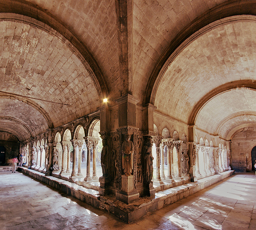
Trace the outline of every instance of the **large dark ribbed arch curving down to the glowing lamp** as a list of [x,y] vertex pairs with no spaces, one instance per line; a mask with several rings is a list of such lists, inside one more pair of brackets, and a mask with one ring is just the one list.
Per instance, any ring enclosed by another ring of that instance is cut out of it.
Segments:
[[[12,7],[9,7],[12,6]],[[23,15],[20,17],[20,15]],[[0,3],[0,18],[4,19],[22,19],[28,23],[37,24],[38,27],[47,28],[48,30],[56,30],[63,38],[67,39],[78,50],[79,58],[84,67],[90,72],[98,95],[103,99],[109,95],[109,86],[105,76],[97,64],[97,61],[82,43],[78,36],[68,26],[63,24],[60,19],[49,13],[48,11],[28,2],[10,1]]]

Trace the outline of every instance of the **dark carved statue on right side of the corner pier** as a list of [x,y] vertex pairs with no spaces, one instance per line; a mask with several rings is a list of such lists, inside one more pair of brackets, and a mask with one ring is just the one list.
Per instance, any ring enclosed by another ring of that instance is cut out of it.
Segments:
[[142,149],[142,156],[144,158],[144,173],[143,173],[143,180],[144,183],[150,184],[152,183],[153,178],[153,160],[154,157],[152,156],[152,138],[148,137],[145,140]]

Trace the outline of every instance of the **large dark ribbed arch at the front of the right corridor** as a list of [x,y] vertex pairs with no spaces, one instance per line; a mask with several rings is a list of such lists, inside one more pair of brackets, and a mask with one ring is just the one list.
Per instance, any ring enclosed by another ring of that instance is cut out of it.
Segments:
[[206,11],[188,24],[185,29],[172,40],[172,43],[170,43],[169,47],[167,47],[158,59],[146,85],[144,104],[155,103],[156,92],[163,74],[169,63],[173,61],[184,47],[188,46],[188,44],[200,34],[210,30],[212,27],[222,24],[225,19],[237,20],[241,15],[256,15],[255,4],[255,0],[225,2]]

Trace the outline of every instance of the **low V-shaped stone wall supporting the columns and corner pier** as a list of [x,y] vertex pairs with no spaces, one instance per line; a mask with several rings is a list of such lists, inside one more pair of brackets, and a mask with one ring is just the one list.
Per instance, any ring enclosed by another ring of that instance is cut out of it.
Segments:
[[180,186],[156,192],[156,196],[143,197],[131,204],[125,204],[115,198],[115,196],[99,196],[98,191],[87,189],[78,184],[65,181],[53,176],[45,176],[40,172],[19,167],[22,173],[27,174],[41,182],[44,182],[63,193],[73,196],[83,202],[86,202],[100,210],[105,210],[112,213],[122,221],[131,223],[142,218],[145,215],[151,214],[162,207],[175,203],[182,198],[188,197],[206,187],[215,184],[232,174],[234,171],[226,171],[218,175],[213,175],[198,180],[197,182],[189,182]]

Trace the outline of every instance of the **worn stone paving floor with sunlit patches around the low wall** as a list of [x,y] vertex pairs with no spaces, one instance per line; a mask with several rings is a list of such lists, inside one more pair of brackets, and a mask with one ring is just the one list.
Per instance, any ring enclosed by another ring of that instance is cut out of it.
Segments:
[[256,229],[255,173],[235,174],[135,223],[22,173],[0,173],[0,229]]

